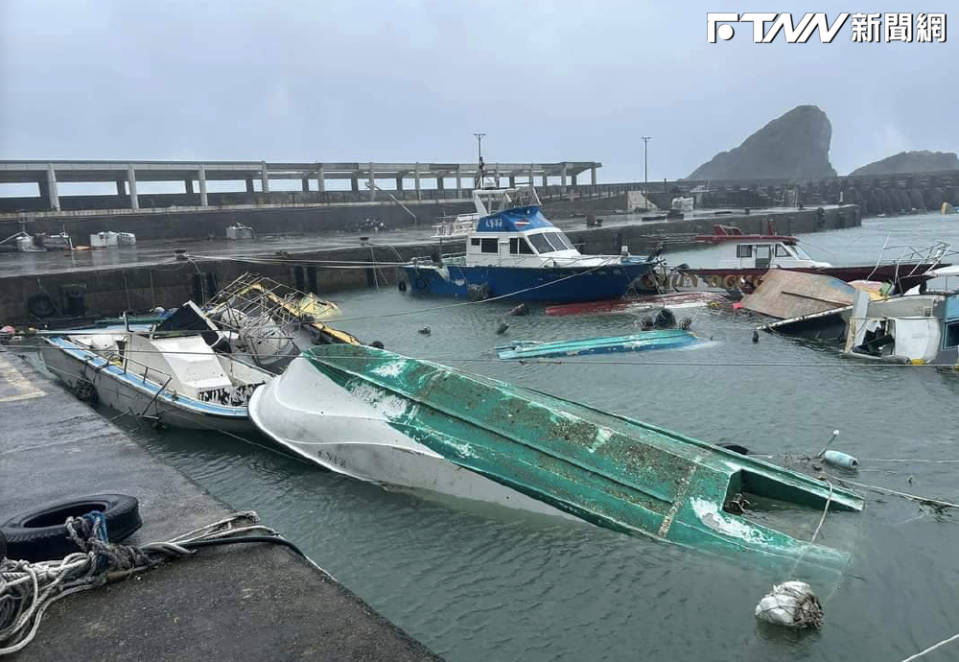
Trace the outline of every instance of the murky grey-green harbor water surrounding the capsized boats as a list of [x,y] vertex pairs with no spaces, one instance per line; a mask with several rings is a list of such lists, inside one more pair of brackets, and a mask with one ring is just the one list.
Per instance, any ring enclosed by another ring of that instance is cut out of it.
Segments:
[[[816,258],[874,260],[890,246],[953,241],[939,215],[867,220],[804,238]],[[898,254],[898,252],[896,253]],[[672,257],[693,263],[702,253]],[[568,364],[502,363],[494,331],[508,304],[428,309],[442,301],[395,288],[340,295],[340,326],[387,348],[554,392],[756,453],[836,447],[860,458],[859,480],[959,502],[959,377],[860,365],[764,335],[754,321],[706,309],[695,350]],[[417,314],[381,317],[396,313]],[[629,315],[510,321],[509,337],[555,340],[636,328]],[[430,326],[432,334],[417,329]],[[721,559],[591,527],[465,511],[314,469],[217,433],[144,431],[137,439],[217,497],[254,508],[320,565],[449,660],[891,660],[959,631],[959,513],[869,493],[838,583],[816,586],[826,625],[795,636],[757,627],[774,581]],[[262,439],[258,443],[266,443]],[[878,462],[904,459],[906,462]],[[830,536],[837,539],[830,540]],[[938,657],[936,657],[936,655]],[[959,659],[959,644],[926,658]]]

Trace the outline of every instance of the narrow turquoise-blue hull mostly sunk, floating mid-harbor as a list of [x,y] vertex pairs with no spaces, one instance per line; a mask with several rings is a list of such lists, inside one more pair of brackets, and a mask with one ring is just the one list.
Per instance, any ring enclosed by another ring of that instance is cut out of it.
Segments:
[[496,348],[501,359],[542,359],[557,356],[588,356],[591,354],[614,354],[619,352],[645,352],[657,349],[687,347],[699,342],[690,331],[684,329],[658,329],[641,331],[628,336],[605,338],[580,338],[556,342],[518,340]]

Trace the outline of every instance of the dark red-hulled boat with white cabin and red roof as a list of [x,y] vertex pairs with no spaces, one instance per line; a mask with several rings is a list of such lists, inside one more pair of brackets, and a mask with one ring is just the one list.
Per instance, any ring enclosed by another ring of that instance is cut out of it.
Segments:
[[716,287],[756,286],[770,269],[790,269],[832,276],[850,282],[880,280],[893,283],[897,292],[906,292],[932,279],[930,273],[942,265],[949,244],[939,243],[925,253],[913,252],[895,260],[862,266],[834,266],[812,259],[799,245],[799,238],[776,233],[768,222],[766,234],[745,234],[736,227],[713,226],[713,234],[699,235],[696,241],[719,250],[716,266],[686,268],[685,273],[704,278]]

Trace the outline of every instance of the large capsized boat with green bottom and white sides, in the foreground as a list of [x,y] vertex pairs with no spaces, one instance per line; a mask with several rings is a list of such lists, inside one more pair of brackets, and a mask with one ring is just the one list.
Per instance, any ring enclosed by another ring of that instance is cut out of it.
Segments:
[[[574,515],[769,567],[848,560],[772,528],[777,514],[863,505],[653,425],[364,346],[305,352],[254,392],[250,416],[279,444],[360,480]],[[736,506],[744,496],[775,505],[753,517]]]

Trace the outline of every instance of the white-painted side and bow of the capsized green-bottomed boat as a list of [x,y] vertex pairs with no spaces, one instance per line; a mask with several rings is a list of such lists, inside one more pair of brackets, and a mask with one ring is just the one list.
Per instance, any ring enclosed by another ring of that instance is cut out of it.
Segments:
[[369,395],[343,389],[299,357],[254,392],[250,418],[278,444],[352,478],[575,519],[449,462],[390,425],[387,414],[416,405],[397,397],[372,404]]

